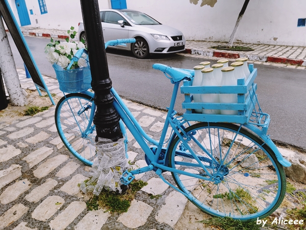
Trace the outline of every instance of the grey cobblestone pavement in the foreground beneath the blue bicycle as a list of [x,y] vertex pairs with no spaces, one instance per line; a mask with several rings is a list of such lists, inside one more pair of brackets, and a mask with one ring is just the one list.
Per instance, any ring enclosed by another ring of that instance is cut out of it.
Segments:
[[[23,88],[35,89],[32,79],[18,70]],[[52,93],[55,79],[44,77]],[[158,139],[165,112],[125,101],[144,130]],[[174,229],[187,199],[169,188],[154,172],[136,175],[148,185],[137,193],[122,215],[104,210],[87,211],[78,183],[90,176],[63,146],[54,121],[55,106],[33,117],[0,120],[0,229]],[[132,135],[129,160],[146,166],[144,153]],[[173,182],[171,174],[165,178]],[[148,194],[162,195],[150,199]]]

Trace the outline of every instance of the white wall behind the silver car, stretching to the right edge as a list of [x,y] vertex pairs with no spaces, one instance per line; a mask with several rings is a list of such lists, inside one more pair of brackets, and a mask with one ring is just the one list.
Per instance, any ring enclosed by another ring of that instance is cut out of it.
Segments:
[[[139,10],[162,24],[181,30],[189,40],[228,41],[243,0],[218,0],[215,6],[200,7],[189,0],[126,0],[127,8]],[[306,46],[306,1],[251,0],[236,39],[246,43]]]

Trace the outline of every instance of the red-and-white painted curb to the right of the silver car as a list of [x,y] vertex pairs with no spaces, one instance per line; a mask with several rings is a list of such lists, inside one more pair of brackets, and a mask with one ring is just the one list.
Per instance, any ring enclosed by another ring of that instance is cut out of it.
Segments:
[[281,58],[281,57],[254,55],[254,54],[239,54],[239,53],[229,53],[229,52],[222,52],[222,51],[221,52],[220,51],[203,51],[203,50],[196,50],[196,49],[186,49],[185,52],[188,54],[195,54],[195,55],[201,55],[201,56],[207,56],[207,57],[219,57],[219,58],[229,58],[229,59],[247,57],[249,61],[263,61],[263,62],[274,62],[274,63],[306,66],[306,60],[302,60],[302,59],[290,59],[290,58]]

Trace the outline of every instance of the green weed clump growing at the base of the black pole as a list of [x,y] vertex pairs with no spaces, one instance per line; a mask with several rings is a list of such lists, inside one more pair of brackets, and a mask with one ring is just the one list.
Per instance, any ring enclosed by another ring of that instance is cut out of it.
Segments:
[[87,209],[89,211],[98,210],[100,207],[113,213],[127,212],[136,193],[147,184],[147,182],[142,180],[133,180],[127,187],[127,190],[121,194],[104,189],[98,196],[93,195],[86,202]]

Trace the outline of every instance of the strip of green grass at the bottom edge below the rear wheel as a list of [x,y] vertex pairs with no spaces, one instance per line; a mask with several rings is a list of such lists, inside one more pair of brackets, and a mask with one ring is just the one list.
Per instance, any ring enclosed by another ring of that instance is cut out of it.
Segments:
[[[240,220],[234,220],[230,217],[213,217],[208,220],[198,221],[204,223],[206,226],[216,226],[224,230],[259,230],[260,225],[254,222],[242,222]],[[217,228],[217,229],[219,229]]]

